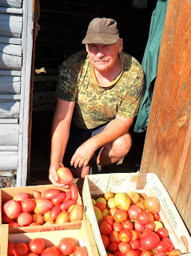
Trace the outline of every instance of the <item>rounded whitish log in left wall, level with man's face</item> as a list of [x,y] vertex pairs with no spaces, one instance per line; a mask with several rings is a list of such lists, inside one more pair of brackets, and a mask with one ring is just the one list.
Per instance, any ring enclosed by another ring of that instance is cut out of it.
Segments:
[[22,69],[22,46],[0,43],[0,69]]

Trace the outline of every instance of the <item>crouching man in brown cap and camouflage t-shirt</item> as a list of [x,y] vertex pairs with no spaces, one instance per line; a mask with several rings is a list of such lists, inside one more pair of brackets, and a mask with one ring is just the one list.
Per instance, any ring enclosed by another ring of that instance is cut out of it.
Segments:
[[107,166],[124,158],[141,101],[143,71],[122,52],[116,21],[94,18],[82,44],[86,51],[67,58],[59,74],[50,157],[50,181],[56,186],[62,186],[57,170],[63,159],[74,177],[84,178],[92,162]]

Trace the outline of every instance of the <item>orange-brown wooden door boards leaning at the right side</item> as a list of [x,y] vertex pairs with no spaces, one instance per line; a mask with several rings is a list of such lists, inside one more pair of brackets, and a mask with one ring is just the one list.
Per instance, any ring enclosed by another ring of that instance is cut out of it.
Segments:
[[169,0],[141,161],[141,172],[161,178],[189,231],[191,20],[185,17],[190,12],[189,0]]

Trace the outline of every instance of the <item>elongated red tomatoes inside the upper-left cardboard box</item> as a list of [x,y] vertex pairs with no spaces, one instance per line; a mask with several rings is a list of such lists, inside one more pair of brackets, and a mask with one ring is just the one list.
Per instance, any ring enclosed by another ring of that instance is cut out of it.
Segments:
[[70,185],[68,192],[58,189],[33,190],[15,194],[2,206],[2,223],[9,227],[39,226],[81,221],[83,207],[78,202],[78,187]]

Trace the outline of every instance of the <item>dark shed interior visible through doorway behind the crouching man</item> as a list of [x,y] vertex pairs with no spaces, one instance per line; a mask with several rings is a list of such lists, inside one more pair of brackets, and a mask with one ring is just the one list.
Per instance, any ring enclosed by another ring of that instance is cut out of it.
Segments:
[[[137,1],[138,2],[138,1]],[[139,1],[141,2],[141,1]],[[114,18],[123,38],[124,51],[141,63],[149,36],[150,18],[156,1],[147,1],[147,8],[126,1],[41,0],[41,30],[35,46],[34,96],[32,113],[30,176],[28,184],[46,182],[50,165],[50,131],[56,104],[58,66],[70,54],[81,50],[82,39],[95,17]],[[44,67],[46,73],[40,73]],[[145,142],[145,133],[132,131],[133,147],[117,171],[137,171]],[[121,168],[121,169],[120,169]]]

